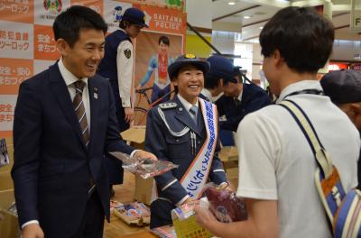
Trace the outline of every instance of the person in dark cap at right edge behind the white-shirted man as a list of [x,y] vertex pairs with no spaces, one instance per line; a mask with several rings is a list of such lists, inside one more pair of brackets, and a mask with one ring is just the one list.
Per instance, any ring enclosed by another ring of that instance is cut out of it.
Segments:
[[[361,72],[342,69],[327,73],[320,80],[326,96],[338,105],[361,135]],[[357,165],[358,186],[361,188],[361,161]]]

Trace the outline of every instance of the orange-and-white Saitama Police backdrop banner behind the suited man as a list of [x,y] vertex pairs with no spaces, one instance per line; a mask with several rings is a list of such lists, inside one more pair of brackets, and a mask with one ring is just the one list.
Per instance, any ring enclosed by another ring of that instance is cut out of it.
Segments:
[[[85,5],[102,14],[109,26],[108,33],[119,29],[116,17],[125,9],[134,6],[144,11],[151,27],[143,29],[134,41],[134,86],[148,69],[149,58],[158,50],[160,35],[169,36],[171,57],[184,50],[184,0],[0,0],[0,138],[12,136],[20,84],[60,58],[52,23],[70,5]],[[151,85],[152,80],[147,84]]]

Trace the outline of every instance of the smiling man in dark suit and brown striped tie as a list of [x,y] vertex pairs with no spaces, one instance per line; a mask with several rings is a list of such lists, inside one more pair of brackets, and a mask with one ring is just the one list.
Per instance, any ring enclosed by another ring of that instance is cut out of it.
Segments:
[[106,23],[88,7],[59,14],[61,59],[23,82],[14,114],[14,193],[23,238],[102,237],[106,151],[153,158],[120,138],[109,82],[96,75]]

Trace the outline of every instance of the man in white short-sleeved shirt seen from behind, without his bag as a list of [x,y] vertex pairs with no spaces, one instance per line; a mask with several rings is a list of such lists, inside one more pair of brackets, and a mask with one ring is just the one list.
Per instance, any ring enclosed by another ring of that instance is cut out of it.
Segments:
[[[301,125],[286,100],[301,107],[338,169],[345,191],[357,185],[360,137],[328,96],[317,72],[329,59],[332,23],[312,8],[287,7],[264,25],[260,44],[263,69],[275,105],[247,114],[239,124],[239,186],[248,219],[222,224],[204,208],[197,221],[221,237],[331,237],[332,230],[315,182],[319,169]],[[342,148],[342,149],[340,149]]]

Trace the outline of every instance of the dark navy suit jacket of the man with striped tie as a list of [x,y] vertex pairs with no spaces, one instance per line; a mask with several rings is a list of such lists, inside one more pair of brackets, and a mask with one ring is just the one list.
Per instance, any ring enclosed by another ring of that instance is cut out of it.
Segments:
[[[23,81],[14,116],[14,192],[19,224],[39,220],[46,237],[69,237],[84,215],[90,177],[109,220],[105,151],[131,153],[120,138],[109,82],[88,78],[86,147],[57,64]],[[91,173],[91,175],[90,175]]]

